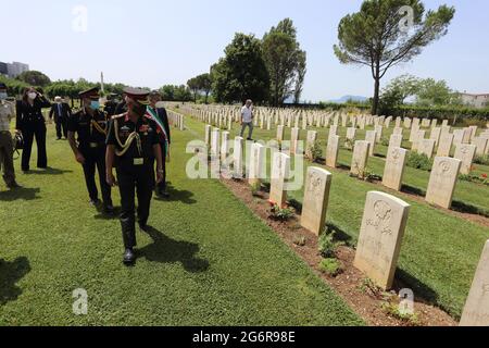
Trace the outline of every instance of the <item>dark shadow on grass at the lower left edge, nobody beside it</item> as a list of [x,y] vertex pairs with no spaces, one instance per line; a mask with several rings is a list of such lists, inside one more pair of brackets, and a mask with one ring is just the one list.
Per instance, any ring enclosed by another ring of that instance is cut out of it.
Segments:
[[22,295],[22,289],[16,286],[27,273],[30,264],[27,258],[17,258],[12,262],[0,259],[0,304],[14,301]]

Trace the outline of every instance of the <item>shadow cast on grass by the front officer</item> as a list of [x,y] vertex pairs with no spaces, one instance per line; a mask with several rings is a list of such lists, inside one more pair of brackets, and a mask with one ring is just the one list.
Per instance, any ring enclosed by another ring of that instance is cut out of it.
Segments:
[[196,257],[200,250],[197,244],[174,240],[151,226],[148,226],[146,233],[153,244],[140,249],[138,257],[159,263],[180,262],[184,269],[191,273],[205,272],[209,269],[209,261]]

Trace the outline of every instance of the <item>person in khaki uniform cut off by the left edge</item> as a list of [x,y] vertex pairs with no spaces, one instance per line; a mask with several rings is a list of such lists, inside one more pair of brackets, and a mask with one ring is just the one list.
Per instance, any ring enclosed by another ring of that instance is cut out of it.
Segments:
[[7,86],[0,83],[0,167],[3,167],[3,179],[10,189],[18,188],[15,182],[13,164],[13,141],[10,133],[10,121],[15,116],[13,103],[7,101]]

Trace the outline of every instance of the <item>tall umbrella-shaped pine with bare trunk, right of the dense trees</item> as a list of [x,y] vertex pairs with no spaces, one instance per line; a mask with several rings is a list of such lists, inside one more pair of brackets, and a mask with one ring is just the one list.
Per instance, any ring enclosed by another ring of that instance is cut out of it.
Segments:
[[334,51],[343,64],[366,65],[375,80],[372,113],[376,114],[380,79],[387,71],[409,62],[423,48],[448,33],[455,9],[428,11],[419,0],[365,0],[359,12],[344,16]]

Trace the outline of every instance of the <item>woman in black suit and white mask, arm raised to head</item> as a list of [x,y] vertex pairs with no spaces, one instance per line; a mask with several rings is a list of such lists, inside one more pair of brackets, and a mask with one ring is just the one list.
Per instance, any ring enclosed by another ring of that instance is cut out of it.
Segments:
[[22,171],[28,173],[34,138],[37,144],[37,167],[48,167],[46,152],[46,120],[43,108],[51,108],[51,102],[34,87],[26,88],[21,101],[16,104],[16,126],[24,137],[22,150]]

